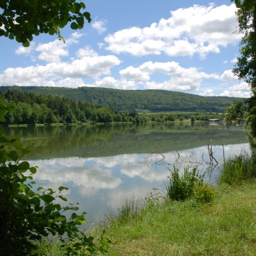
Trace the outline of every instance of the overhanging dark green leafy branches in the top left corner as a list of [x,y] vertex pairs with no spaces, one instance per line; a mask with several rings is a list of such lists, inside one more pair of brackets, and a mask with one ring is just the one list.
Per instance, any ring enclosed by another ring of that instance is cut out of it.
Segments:
[[57,34],[70,22],[73,30],[91,22],[86,5],[76,0],[0,0],[0,36],[29,46],[40,33]]

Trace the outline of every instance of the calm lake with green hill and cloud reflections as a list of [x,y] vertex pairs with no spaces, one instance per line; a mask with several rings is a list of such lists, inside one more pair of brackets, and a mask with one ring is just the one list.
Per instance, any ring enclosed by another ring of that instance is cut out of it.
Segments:
[[[80,202],[88,225],[104,219],[107,207],[115,209],[124,199],[144,198],[153,188],[162,189],[173,164],[178,168],[209,167],[207,144],[215,159],[249,152],[243,126],[216,123],[143,123],[65,125],[4,128],[6,136],[18,136],[32,144],[23,157],[38,165],[37,186],[67,186],[69,202]],[[218,168],[207,174],[211,183]]]

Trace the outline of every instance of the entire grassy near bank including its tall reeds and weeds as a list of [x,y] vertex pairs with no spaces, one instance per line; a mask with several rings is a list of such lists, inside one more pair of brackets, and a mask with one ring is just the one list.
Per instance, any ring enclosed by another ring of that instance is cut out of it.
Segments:
[[167,193],[107,216],[108,255],[256,255],[255,164],[255,154],[226,160],[216,186],[196,169],[170,170]]

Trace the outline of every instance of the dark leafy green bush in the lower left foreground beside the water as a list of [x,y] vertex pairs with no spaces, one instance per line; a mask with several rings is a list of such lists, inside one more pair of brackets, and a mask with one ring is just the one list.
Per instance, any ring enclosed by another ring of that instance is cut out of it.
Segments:
[[[12,111],[0,101],[0,120],[4,120],[6,111]],[[58,191],[38,187],[33,181],[37,167],[30,167],[20,158],[29,152],[19,139],[6,138],[0,134],[0,255],[30,255],[37,249],[38,241],[47,236],[58,237],[63,243],[63,235],[67,236],[67,255],[92,255],[96,252],[107,252],[110,241],[103,235],[99,243],[94,237],[79,230],[86,223],[83,212],[73,212],[69,218],[68,210],[77,211],[78,203],[62,206],[67,202],[60,186]],[[81,254],[78,254],[78,248]],[[86,254],[85,254],[86,253]],[[36,254],[37,255],[37,254]]]

